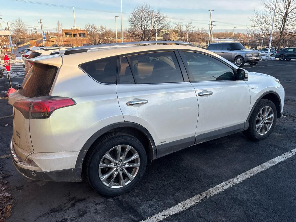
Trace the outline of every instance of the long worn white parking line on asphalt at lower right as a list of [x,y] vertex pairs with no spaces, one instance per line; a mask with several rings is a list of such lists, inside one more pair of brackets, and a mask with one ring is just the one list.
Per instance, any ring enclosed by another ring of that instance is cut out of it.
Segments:
[[202,192],[200,194],[197,194],[194,197],[191,197],[190,199],[184,200],[177,205],[170,207],[166,210],[163,210],[155,215],[152,215],[148,217],[146,220],[143,220],[141,222],[152,222],[152,221],[162,221],[165,218],[168,218],[171,215],[180,213],[184,210],[187,210],[189,207],[193,207],[194,205],[197,205],[198,203],[202,202],[203,200],[206,200],[209,197],[212,197],[222,191],[225,191],[226,189],[239,184],[240,182],[255,176],[257,173],[260,173],[278,163],[281,163],[284,160],[287,160],[288,158],[294,156],[296,154],[296,149],[292,149],[278,157],[273,158],[272,160],[269,160],[255,168],[252,168],[234,178],[231,178],[221,184],[218,184],[217,186],[214,186],[213,188],[208,189],[205,192]]

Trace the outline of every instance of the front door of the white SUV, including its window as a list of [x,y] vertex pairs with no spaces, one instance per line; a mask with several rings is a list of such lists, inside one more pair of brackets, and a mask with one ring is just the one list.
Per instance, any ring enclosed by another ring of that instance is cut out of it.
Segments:
[[179,52],[198,95],[196,136],[242,125],[250,109],[247,83],[237,81],[233,67],[216,57],[195,51]]

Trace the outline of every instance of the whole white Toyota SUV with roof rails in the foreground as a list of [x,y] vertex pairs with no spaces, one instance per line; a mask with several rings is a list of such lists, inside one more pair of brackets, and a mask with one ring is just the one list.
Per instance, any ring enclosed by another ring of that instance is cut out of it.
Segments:
[[131,190],[152,160],[186,147],[240,131],[265,139],[284,107],[278,79],[185,42],[82,46],[28,61],[9,96],[16,169],[46,181],[83,174],[104,195]]

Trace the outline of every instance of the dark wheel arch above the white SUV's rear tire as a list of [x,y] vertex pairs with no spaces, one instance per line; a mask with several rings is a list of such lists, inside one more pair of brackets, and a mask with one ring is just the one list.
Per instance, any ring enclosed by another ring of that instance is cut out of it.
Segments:
[[137,123],[119,122],[110,124],[109,126],[105,126],[104,128],[98,130],[86,141],[78,154],[75,168],[83,168],[86,160],[85,157],[87,157],[87,155],[91,152],[92,145],[105,134],[112,132],[128,133],[137,137],[146,149],[149,162],[151,163],[152,160],[156,159],[156,146],[149,131]]

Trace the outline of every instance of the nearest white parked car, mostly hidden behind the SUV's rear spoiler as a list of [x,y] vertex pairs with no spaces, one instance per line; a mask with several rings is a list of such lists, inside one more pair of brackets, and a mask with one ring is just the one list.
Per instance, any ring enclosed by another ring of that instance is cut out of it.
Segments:
[[[28,55],[27,59],[33,59],[38,56],[60,54],[60,53],[65,52],[66,49],[70,49],[70,48],[65,48],[65,47],[40,48],[40,47],[38,47],[37,49],[30,49],[30,54]],[[25,61],[25,75],[27,75],[31,65],[33,65],[31,62],[28,62],[27,59]]]

